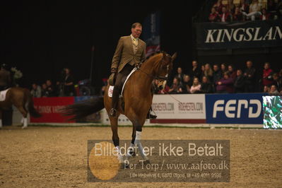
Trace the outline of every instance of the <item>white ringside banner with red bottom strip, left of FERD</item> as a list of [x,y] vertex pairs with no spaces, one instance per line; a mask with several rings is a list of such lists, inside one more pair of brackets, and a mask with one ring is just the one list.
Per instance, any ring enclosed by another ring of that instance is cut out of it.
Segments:
[[205,95],[154,95],[151,123],[205,123]]

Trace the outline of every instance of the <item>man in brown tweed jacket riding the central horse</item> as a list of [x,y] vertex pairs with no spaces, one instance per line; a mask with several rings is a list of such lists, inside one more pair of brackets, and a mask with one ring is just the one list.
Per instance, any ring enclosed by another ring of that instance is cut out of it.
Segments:
[[[139,39],[142,32],[141,23],[131,25],[131,35],[120,37],[117,49],[112,58],[110,85],[114,85],[112,92],[112,109],[110,116],[117,116],[117,104],[119,94],[122,91],[122,84],[130,74],[134,66],[139,66],[146,59],[146,43]],[[115,83],[114,83],[115,80]],[[156,116],[148,112],[147,118],[155,119]]]

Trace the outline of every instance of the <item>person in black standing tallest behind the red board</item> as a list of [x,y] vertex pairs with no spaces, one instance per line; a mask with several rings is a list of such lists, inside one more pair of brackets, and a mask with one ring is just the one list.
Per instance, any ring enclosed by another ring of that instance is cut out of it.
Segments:
[[74,90],[74,76],[71,74],[71,69],[64,69],[64,96],[74,96],[76,92]]

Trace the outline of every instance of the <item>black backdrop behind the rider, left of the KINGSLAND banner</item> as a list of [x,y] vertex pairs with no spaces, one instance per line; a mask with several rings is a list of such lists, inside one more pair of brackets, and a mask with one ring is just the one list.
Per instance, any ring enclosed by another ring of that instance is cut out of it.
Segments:
[[[102,86],[119,37],[131,33],[151,11],[161,12],[161,49],[178,52],[175,67],[192,60],[192,6],[187,1],[6,1],[1,6],[0,61],[23,71],[20,86],[57,81],[64,67],[76,81],[89,78],[95,46],[93,86]],[[175,68],[176,69],[176,68]]]

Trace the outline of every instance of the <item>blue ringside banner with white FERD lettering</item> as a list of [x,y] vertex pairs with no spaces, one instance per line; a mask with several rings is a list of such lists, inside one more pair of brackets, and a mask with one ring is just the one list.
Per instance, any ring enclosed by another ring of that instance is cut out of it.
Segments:
[[266,93],[206,95],[207,124],[263,124]]

